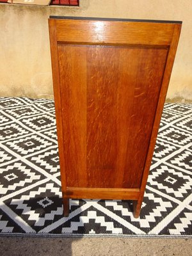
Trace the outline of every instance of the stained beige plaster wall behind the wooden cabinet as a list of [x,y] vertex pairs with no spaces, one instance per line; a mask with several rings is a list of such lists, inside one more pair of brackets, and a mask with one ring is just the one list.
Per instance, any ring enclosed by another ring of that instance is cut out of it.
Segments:
[[49,15],[182,20],[167,97],[192,101],[191,0],[80,0],[80,7],[0,4],[0,96],[53,97]]

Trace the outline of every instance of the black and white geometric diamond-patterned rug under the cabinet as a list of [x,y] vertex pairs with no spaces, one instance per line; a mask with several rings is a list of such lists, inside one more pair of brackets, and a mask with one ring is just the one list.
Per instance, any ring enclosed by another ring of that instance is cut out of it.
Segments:
[[0,232],[192,236],[192,105],[165,104],[140,218],[132,202],[70,200],[63,217],[54,100],[0,98]]

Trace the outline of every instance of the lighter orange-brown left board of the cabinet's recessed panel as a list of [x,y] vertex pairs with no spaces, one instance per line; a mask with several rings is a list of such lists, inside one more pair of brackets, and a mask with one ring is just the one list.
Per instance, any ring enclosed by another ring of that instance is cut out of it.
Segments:
[[67,186],[86,187],[86,47],[58,45]]

